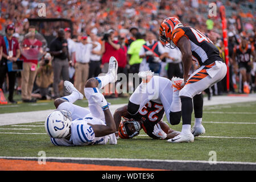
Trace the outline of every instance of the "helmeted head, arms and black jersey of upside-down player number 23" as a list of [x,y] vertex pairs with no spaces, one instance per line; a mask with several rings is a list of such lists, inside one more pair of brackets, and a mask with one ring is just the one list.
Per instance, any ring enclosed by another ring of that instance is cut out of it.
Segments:
[[122,139],[131,139],[143,129],[153,139],[174,138],[179,131],[170,129],[162,121],[163,114],[163,105],[154,101],[149,101],[135,116],[127,112],[127,105],[119,107],[114,113],[115,126],[118,129],[116,134]]

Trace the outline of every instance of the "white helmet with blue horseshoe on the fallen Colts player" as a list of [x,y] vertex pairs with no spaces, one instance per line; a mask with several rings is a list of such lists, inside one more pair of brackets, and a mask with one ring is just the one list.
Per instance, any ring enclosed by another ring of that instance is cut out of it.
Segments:
[[47,116],[44,127],[49,137],[65,138],[71,134],[71,121],[71,113],[68,110],[55,110]]

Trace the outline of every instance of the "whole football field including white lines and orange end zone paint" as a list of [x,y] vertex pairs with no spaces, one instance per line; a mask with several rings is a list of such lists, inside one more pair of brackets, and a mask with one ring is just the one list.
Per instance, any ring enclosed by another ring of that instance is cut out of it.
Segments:
[[[109,102],[114,113],[127,98]],[[75,104],[88,105],[86,100]],[[0,106],[0,170],[256,169],[256,94],[204,100],[206,133],[193,143],[155,140],[141,130],[117,145],[53,146],[44,130],[53,109],[53,101]],[[180,131],[181,123],[171,128]]]

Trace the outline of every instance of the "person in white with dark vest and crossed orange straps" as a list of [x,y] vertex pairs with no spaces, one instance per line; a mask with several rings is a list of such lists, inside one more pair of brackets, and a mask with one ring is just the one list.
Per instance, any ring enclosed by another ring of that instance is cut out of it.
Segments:
[[160,73],[160,63],[167,55],[163,45],[156,41],[155,34],[147,32],[146,43],[139,52],[139,57],[143,58],[139,71],[151,70],[154,73]]

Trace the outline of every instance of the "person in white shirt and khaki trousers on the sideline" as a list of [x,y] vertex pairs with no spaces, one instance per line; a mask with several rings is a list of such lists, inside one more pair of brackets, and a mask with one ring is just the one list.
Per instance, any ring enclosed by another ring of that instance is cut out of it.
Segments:
[[88,43],[87,36],[82,36],[81,42],[76,43],[76,63],[74,85],[79,92],[84,90],[89,75],[89,62],[92,49],[97,45]]

